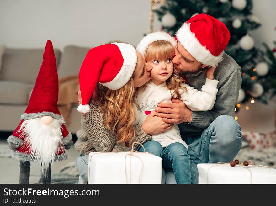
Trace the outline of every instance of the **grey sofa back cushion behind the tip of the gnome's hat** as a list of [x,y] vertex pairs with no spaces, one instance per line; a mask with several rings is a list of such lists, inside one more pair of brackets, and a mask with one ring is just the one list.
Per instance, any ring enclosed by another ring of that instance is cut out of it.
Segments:
[[[54,50],[56,62],[61,52]],[[0,80],[35,83],[43,61],[44,49],[5,49]]]

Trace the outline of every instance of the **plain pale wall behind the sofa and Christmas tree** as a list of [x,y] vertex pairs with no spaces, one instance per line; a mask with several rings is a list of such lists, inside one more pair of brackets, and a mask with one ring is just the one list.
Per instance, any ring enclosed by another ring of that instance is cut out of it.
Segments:
[[[266,42],[272,47],[276,40],[276,1],[253,2],[253,13],[262,27],[250,34],[257,46]],[[43,48],[50,39],[61,50],[69,44],[93,47],[115,40],[137,45],[148,32],[150,11],[150,0],[0,0],[0,44]],[[154,30],[159,28],[155,16]],[[237,113],[243,130],[275,129],[275,102],[246,105]]]

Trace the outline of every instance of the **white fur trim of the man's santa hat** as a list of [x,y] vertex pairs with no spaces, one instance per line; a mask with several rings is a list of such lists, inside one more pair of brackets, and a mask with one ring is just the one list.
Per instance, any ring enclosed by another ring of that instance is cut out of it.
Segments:
[[184,23],[175,34],[181,45],[199,62],[207,66],[215,66],[223,59],[224,51],[214,56],[202,46],[195,34],[190,30],[191,23]]

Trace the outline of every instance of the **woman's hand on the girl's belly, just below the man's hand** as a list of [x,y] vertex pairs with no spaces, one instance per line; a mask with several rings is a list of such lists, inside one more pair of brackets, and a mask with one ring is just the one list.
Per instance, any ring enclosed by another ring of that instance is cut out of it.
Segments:
[[155,111],[152,111],[142,124],[142,129],[148,135],[158,135],[168,129],[171,129],[173,125],[174,124],[164,122],[162,118],[156,116]]

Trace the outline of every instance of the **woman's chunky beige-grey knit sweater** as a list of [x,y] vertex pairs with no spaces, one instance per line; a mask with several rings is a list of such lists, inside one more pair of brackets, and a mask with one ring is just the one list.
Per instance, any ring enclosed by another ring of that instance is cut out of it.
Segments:
[[[82,116],[82,129],[77,131],[77,142],[75,148],[87,155],[90,152],[119,152],[130,151],[131,148],[125,147],[124,143],[116,144],[116,136],[105,127],[105,120],[101,106],[93,101],[90,101],[90,111]],[[151,140],[151,136],[147,135],[141,125],[135,125],[135,142],[144,144]],[[137,151],[140,148],[139,144],[134,145]]]

